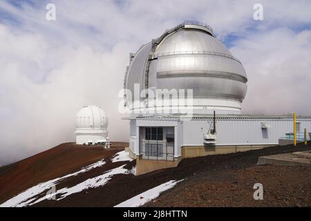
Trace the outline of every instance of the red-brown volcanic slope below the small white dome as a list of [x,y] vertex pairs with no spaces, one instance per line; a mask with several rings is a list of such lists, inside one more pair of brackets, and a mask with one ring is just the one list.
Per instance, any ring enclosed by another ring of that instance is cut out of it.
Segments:
[[0,167],[0,203],[40,182],[74,173],[84,166],[122,151],[126,146],[127,143],[113,142],[110,149],[104,149],[103,146],[65,143],[25,160],[2,166]]

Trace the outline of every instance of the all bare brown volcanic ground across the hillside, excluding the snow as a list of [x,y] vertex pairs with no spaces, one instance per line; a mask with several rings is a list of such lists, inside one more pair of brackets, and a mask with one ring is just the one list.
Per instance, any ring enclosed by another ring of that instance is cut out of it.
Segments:
[[[69,177],[57,184],[56,189],[76,186],[124,164],[124,168],[132,169],[135,160],[111,162],[111,157],[124,146],[127,145],[103,149],[62,144],[5,166],[0,169],[0,202],[39,182],[73,173],[102,158],[106,164]],[[184,159],[174,168],[139,176],[114,175],[103,186],[84,189],[62,200],[43,200],[32,206],[115,206],[164,182],[182,179],[184,181],[173,189],[144,206],[311,206],[310,166],[257,165],[259,156],[307,150],[311,150],[310,143]],[[255,183],[263,184],[263,200],[253,198]]]

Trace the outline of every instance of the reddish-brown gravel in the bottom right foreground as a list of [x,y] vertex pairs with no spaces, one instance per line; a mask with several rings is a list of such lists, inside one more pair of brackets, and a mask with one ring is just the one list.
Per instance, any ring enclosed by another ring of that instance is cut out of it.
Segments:
[[[263,184],[263,200],[253,186]],[[311,206],[311,168],[252,166],[195,175],[145,206]]]

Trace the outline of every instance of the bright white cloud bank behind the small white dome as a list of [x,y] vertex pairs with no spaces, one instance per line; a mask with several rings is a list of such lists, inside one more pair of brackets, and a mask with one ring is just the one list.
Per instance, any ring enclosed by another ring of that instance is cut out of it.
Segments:
[[[109,52],[96,52],[88,46],[51,48],[40,37],[16,37],[6,28],[1,29],[1,37],[1,42],[17,42],[12,52],[0,59],[1,140],[12,148],[1,156],[8,160],[10,153],[14,160],[15,154],[25,156],[73,141],[75,114],[87,104],[102,106],[113,119],[109,124],[113,140],[126,140],[127,128],[120,126],[126,122],[121,122],[117,113],[116,95],[122,88],[128,62],[123,51],[131,50],[128,45],[120,42]],[[53,59],[50,53],[62,61],[45,70],[44,62]],[[44,82],[38,81],[41,77]]]

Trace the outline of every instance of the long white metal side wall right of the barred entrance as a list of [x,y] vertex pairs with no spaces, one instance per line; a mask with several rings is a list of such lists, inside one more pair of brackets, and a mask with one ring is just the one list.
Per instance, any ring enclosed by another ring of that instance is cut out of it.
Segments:
[[[191,120],[183,122],[183,146],[202,145],[202,133],[207,133],[212,120]],[[271,128],[261,128],[261,122]],[[301,130],[311,131],[311,119],[297,119]],[[265,133],[264,130],[267,130]],[[288,118],[261,119],[217,119],[217,145],[278,144],[285,133],[293,132],[293,120]],[[297,131],[298,132],[298,131]]]

